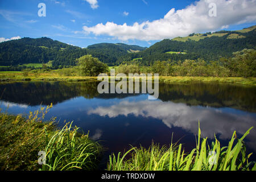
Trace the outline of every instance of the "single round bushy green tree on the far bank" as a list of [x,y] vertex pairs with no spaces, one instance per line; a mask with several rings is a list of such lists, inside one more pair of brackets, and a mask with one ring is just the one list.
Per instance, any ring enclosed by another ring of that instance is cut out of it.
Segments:
[[76,60],[82,76],[98,76],[108,72],[108,65],[99,61],[92,55],[85,55]]

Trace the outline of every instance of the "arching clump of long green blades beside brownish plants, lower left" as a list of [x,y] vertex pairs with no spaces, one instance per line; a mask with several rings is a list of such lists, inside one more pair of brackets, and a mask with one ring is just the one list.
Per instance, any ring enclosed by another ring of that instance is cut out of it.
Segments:
[[46,164],[42,170],[97,169],[102,147],[89,139],[89,133],[84,135],[78,131],[78,127],[72,127],[72,123],[67,123],[49,139],[44,149]]

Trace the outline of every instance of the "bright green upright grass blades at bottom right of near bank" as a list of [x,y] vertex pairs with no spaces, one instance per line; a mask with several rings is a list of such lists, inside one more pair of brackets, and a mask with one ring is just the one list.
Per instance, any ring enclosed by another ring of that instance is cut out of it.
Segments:
[[[234,131],[229,145],[221,147],[215,137],[215,142],[209,146],[207,138],[200,138],[199,126],[196,148],[185,154],[182,144],[171,143],[170,147],[159,147],[152,143],[146,148],[133,147],[121,157],[109,156],[107,169],[109,171],[250,171],[256,170],[255,162],[248,162],[251,154],[246,155],[243,139],[252,127],[238,139]],[[236,143],[235,143],[235,140]],[[130,159],[126,156],[131,155]]]

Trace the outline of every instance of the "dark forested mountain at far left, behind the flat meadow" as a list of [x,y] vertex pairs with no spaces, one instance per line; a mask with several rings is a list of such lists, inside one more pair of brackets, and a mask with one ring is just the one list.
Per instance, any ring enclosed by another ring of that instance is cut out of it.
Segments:
[[85,55],[86,50],[49,38],[22,38],[0,43],[0,65],[48,63],[74,65],[76,58]]

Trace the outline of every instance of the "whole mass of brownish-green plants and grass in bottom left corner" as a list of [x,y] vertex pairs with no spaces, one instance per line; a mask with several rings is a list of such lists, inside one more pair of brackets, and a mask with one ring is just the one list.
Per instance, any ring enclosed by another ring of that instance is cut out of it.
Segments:
[[[1,170],[94,170],[98,167],[101,146],[88,134],[66,123],[56,128],[55,118],[43,122],[52,107],[30,112],[28,118],[0,113],[0,168]],[[46,164],[38,164],[38,152],[46,152]]]

